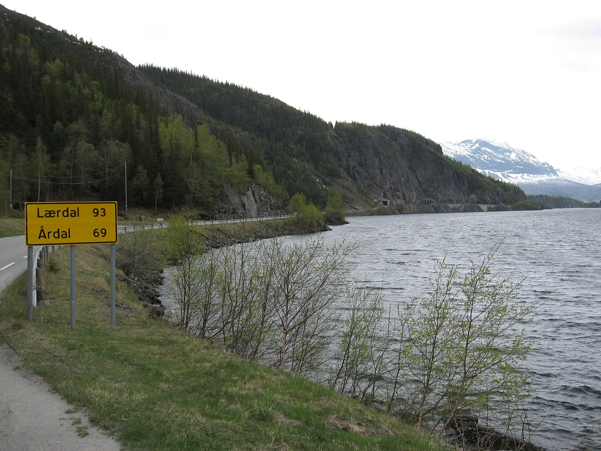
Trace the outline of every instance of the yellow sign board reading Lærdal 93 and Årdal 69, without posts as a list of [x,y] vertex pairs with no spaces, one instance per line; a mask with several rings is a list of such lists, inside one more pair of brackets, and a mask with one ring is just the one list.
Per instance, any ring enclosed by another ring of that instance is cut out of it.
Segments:
[[25,244],[117,242],[117,202],[25,203]]

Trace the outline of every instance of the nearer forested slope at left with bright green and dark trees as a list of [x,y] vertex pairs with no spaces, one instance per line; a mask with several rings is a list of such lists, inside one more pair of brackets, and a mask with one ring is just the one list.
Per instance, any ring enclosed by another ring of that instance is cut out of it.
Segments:
[[[124,199],[210,211],[228,183],[260,183],[285,196],[270,174],[235,158],[204,124],[168,115],[159,100],[107,70],[120,57],[12,11],[0,22],[0,197],[9,171],[17,208],[31,200]],[[251,165],[252,164],[252,165]]]

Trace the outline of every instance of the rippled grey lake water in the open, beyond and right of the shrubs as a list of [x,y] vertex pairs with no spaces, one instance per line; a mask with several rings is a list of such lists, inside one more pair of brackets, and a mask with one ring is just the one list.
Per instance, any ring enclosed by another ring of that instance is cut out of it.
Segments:
[[[549,450],[601,450],[601,209],[347,218],[326,242],[357,242],[355,277],[388,302],[426,296],[436,260],[465,267],[504,239],[493,269],[526,277],[519,299],[543,302],[526,326],[533,441]],[[292,240],[302,237],[290,237]],[[461,272],[460,272],[461,274]]]

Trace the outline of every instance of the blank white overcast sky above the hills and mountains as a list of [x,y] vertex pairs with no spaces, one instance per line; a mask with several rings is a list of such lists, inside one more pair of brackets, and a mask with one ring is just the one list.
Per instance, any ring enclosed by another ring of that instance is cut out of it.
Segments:
[[325,120],[496,138],[601,167],[601,1],[0,0],[85,40]]

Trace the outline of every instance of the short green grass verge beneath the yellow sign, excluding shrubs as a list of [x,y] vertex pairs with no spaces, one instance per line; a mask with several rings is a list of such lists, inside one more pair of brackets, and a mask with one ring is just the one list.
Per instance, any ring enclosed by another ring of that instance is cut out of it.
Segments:
[[[127,449],[442,450],[443,445],[360,403],[289,373],[211,348],[147,318],[117,282],[109,331],[109,266],[101,247],[77,253],[77,328],[69,328],[69,251],[53,254],[44,298],[25,321],[25,278],[0,306],[0,337],[69,402]],[[11,307],[12,306],[12,307]]]

